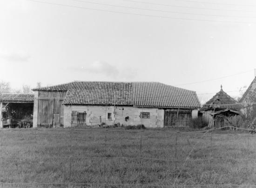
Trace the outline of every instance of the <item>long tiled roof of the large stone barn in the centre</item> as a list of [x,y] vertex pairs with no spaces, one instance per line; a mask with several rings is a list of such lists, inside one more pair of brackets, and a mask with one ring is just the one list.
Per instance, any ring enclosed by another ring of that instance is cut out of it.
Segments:
[[70,105],[201,107],[195,91],[159,82],[73,81],[34,91],[67,91]]

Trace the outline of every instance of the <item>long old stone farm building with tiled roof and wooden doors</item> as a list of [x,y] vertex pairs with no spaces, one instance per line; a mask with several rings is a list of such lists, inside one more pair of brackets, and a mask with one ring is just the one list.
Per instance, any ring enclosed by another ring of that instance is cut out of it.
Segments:
[[73,81],[34,89],[34,127],[77,125],[188,126],[195,91],[159,82]]

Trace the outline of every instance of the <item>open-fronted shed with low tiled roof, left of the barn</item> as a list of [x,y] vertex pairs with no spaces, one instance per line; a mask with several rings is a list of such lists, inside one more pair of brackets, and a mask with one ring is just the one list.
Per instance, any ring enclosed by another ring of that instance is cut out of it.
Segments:
[[0,128],[16,127],[22,119],[33,122],[34,94],[0,94]]

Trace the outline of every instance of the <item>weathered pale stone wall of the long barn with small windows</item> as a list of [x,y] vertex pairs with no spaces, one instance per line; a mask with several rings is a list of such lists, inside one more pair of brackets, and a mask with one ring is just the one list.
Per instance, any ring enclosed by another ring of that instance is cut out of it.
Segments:
[[[114,106],[75,106],[65,105],[64,107],[64,127],[71,126],[72,111],[86,112],[86,125],[99,125],[106,123],[114,125],[139,125],[146,127],[163,127],[164,110],[158,108],[145,107],[114,107]],[[149,119],[141,119],[140,113],[150,113]],[[108,119],[108,113],[112,113],[112,120]],[[125,120],[127,118],[127,121]]]

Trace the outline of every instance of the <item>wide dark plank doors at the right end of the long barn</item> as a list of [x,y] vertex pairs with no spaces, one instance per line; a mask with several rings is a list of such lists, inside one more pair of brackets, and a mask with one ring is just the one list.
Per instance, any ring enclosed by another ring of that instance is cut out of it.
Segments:
[[192,118],[192,111],[176,110],[164,111],[164,127],[189,127],[189,121]]

